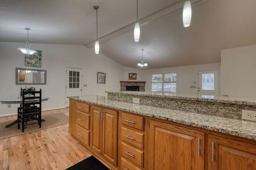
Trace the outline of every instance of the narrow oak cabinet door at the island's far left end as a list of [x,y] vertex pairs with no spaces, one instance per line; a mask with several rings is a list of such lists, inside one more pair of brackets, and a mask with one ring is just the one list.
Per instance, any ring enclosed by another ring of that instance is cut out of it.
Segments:
[[76,135],[76,100],[69,100],[69,127],[71,135]]

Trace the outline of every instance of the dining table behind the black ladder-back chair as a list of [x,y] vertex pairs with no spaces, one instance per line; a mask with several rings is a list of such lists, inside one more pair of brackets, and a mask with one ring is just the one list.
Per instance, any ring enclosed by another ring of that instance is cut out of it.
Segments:
[[[48,96],[42,96],[42,102],[45,102],[49,99],[50,97]],[[26,100],[26,103],[35,101],[38,99],[33,99],[33,100]],[[2,98],[0,99],[0,103],[1,104],[22,104],[22,98],[18,97],[18,98]],[[45,121],[44,119],[42,119],[42,121]],[[6,125],[5,127],[11,127],[13,125],[15,125],[16,123],[18,123],[18,120],[13,121],[12,123]]]

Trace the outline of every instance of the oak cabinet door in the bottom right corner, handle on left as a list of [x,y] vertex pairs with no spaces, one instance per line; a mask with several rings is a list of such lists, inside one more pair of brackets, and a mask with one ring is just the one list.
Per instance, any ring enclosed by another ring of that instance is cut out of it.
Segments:
[[208,170],[256,170],[256,143],[243,143],[209,135]]

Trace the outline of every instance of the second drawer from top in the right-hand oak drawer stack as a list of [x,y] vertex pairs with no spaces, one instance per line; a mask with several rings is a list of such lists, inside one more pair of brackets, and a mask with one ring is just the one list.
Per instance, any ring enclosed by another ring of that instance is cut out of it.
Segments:
[[144,134],[122,127],[122,140],[143,150]]

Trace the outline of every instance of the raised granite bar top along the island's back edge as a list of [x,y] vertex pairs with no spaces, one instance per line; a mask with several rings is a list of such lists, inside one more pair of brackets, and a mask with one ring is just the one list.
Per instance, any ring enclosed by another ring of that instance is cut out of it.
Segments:
[[256,106],[256,99],[252,98],[233,98],[227,96],[213,96],[213,95],[186,95],[186,94],[177,94],[177,93],[168,93],[168,92],[120,92],[120,91],[106,91],[106,93],[114,94],[127,94],[127,95],[136,95],[136,96],[149,96],[149,97],[162,97],[162,98],[174,98],[174,99],[184,99],[184,100],[197,100],[197,101],[206,101],[206,102],[219,102],[219,103],[228,103],[228,104],[244,104]]

